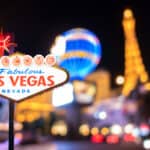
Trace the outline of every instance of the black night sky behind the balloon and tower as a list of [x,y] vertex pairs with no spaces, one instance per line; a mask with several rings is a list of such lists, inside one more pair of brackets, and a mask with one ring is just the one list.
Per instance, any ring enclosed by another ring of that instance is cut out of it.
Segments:
[[5,32],[15,34],[17,51],[32,55],[46,55],[54,38],[66,30],[75,27],[87,28],[99,37],[102,44],[103,55],[98,68],[108,69],[112,76],[115,76],[124,72],[124,36],[121,21],[123,10],[131,8],[136,17],[141,53],[149,71],[149,3],[143,2],[144,0],[101,1],[3,1],[0,5],[0,26]]

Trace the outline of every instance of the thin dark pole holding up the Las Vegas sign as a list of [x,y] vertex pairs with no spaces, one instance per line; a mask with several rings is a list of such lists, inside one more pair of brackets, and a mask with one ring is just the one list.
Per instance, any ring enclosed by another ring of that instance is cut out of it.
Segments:
[[14,105],[9,101],[9,150],[14,150]]

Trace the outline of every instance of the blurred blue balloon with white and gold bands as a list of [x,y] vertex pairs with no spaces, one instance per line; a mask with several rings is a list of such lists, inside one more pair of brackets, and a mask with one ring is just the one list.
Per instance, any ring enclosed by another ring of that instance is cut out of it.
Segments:
[[101,44],[97,36],[83,28],[62,33],[52,53],[58,54],[58,65],[69,72],[70,80],[82,80],[91,73],[101,59]]

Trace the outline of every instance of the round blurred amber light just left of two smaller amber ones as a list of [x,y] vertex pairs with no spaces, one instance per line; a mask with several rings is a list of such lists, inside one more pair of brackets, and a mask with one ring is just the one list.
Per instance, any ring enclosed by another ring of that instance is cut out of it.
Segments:
[[79,133],[82,136],[89,136],[89,134],[90,134],[90,127],[89,127],[89,125],[88,124],[82,124],[79,127]]

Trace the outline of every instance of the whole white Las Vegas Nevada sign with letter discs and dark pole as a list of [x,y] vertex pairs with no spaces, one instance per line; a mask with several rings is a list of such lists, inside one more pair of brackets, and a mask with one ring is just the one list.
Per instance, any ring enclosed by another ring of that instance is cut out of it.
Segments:
[[15,102],[60,86],[67,82],[68,73],[54,66],[55,56],[15,55],[0,58],[0,95],[9,101],[9,150],[14,150]]

